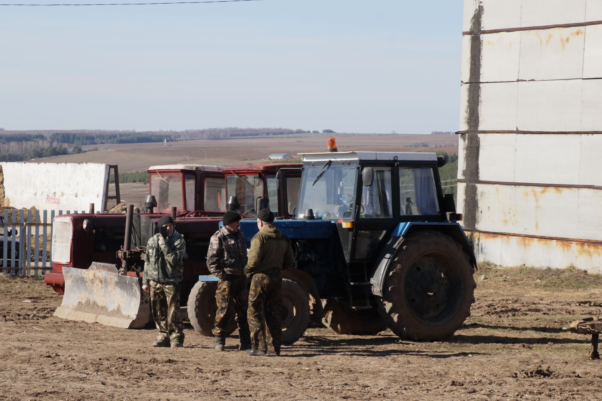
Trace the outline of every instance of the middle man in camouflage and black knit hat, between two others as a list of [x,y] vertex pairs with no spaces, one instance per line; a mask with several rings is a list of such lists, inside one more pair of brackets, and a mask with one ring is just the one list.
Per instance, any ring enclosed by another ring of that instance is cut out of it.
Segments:
[[223,216],[223,225],[209,241],[207,252],[207,267],[219,281],[216,290],[216,326],[213,334],[216,336],[215,347],[223,351],[226,345],[230,310],[234,310],[238,325],[240,350],[251,349],[249,323],[247,323],[247,306],[249,287],[244,275],[247,264],[247,242],[240,227],[240,215],[229,210]]

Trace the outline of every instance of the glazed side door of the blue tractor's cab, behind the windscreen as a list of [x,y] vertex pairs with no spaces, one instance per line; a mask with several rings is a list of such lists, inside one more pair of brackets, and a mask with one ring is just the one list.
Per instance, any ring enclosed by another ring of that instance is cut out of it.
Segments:
[[380,252],[383,239],[397,225],[399,191],[394,191],[397,170],[389,164],[361,164],[356,192],[353,236],[347,254],[348,262],[370,262]]

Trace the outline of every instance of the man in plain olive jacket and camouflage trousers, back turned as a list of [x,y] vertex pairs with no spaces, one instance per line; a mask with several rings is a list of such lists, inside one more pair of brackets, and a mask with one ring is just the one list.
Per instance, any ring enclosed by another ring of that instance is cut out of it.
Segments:
[[[251,278],[247,319],[252,349],[245,351],[249,355],[280,355],[282,344],[282,269],[292,268],[295,258],[291,241],[273,222],[274,213],[267,209],[259,210],[259,232],[251,240],[244,268],[244,273]],[[262,311],[271,342],[265,338]]]

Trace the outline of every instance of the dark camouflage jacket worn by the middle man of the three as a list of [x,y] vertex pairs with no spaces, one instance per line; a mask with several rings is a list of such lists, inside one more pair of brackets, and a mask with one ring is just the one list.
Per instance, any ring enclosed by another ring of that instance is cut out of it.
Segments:
[[243,275],[247,264],[247,240],[242,231],[232,233],[222,225],[209,241],[207,268],[217,278],[223,274]]

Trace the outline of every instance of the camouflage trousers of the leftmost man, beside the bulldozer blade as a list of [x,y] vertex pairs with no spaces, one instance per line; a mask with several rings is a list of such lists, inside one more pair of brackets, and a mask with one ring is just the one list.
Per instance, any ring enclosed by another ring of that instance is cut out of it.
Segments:
[[157,326],[157,340],[184,343],[184,323],[180,312],[180,286],[149,281],[152,317]]

